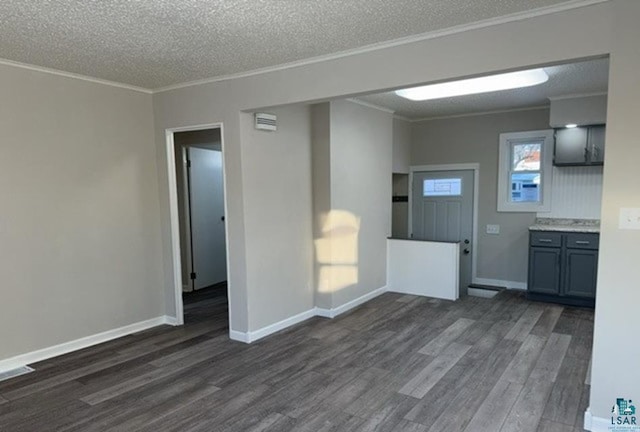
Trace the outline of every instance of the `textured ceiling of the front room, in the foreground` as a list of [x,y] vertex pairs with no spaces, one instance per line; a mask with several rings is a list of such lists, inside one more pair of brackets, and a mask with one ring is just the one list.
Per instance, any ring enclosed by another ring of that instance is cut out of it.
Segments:
[[561,3],[567,1],[5,0],[0,58],[159,88]]

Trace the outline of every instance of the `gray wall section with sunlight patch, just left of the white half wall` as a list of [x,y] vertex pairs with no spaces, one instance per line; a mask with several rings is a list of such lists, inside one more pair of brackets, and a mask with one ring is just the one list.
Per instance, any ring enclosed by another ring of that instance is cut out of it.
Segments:
[[357,279],[333,293],[333,307],[387,283],[391,235],[391,114],[349,101],[331,102],[331,208],[359,220]]

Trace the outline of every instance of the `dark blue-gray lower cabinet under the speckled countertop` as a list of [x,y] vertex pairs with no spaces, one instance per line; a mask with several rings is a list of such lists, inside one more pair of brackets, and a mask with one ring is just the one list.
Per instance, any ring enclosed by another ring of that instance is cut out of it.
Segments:
[[527,297],[594,306],[599,234],[532,231]]

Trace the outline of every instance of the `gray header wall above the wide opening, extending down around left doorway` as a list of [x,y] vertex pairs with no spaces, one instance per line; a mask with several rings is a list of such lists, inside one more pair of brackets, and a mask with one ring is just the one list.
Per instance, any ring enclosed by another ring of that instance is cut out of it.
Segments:
[[[254,291],[264,289],[264,285],[249,283],[252,272],[247,268],[247,251],[260,240],[248,237],[245,226],[254,223],[253,220],[259,221],[261,214],[245,209],[248,198],[244,164],[251,154],[246,151],[240,134],[241,111],[326,101],[380,89],[606,54],[612,42],[608,21],[612,8],[610,3],[598,4],[331,61],[154,94],[167,313],[173,314],[175,305],[168,182],[163,169],[166,167],[166,128],[224,123],[231,328],[247,331],[248,299]],[[492,47],[491,55],[486,55],[487,46]],[[522,46],[528,49],[523,50]],[[398,64],[403,67],[398,68]],[[272,256],[263,259],[265,265],[276,260]]]

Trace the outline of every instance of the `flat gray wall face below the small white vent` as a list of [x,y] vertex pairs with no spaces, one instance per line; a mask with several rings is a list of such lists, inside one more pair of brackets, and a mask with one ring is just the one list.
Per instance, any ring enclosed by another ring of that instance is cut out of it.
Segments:
[[254,239],[247,249],[249,331],[306,312],[314,306],[311,117],[308,106],[270,109],[278,130],[254,128],[241,114],[245,223]]

